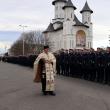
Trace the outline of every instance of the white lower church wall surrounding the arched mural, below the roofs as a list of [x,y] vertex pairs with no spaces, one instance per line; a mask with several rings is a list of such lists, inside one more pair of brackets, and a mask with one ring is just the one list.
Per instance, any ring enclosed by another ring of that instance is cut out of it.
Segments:
[[[70,27],[69,27],[70,28]],[[86,34],[86,48],[92,47],[92,37],[89,35],[89,29],[86,27],[73,26],[70,34],[63,34],[63,30],[48,33],[48,38],[51,42],[52,51],[60,49],[75,49],[76,47],[76,33],[83,30]]]

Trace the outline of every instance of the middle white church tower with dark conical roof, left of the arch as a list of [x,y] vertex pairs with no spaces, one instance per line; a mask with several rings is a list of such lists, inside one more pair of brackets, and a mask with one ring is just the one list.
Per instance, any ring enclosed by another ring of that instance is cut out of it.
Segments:
[[63,7],[64,10],[64,23],[63,23],[63,43],[64,48],[70,49],[70,41],[73,39],[72,25],[74,20],[74,10],[76,7],[73,5],[71,0],[68,0],[66,5]]

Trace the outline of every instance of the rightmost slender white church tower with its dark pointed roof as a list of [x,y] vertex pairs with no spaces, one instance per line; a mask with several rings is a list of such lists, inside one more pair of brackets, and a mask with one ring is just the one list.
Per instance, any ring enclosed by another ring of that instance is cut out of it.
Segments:
[[90,9],[87,1],[80,13],[82,14],[82,23],[89,26],[86,47],[91,48],[93,47],[93,24],[91,22],[91,14],[93,11]]

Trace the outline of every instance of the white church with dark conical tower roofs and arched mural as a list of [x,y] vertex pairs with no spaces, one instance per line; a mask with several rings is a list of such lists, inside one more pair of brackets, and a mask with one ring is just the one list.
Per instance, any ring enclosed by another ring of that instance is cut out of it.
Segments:
[[75,15],[77,9],[71,0],[54,0],[54,19],[43,35],[51,50],[60,49],[90,49],[93,47],[93,24],[87,1],[80,11],[82,21]]

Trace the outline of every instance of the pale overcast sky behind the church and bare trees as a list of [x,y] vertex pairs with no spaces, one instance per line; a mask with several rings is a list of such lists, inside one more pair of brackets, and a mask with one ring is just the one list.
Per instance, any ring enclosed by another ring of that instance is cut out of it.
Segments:
[[[22,31],[19,25],[27,25],[25,31],[45,29],[54,18],[53,0],[0,0],[0,48],[9,47]],[[86,0],[72,0],[77,7],[75,14],[81,21],[79,11]],[[87,0],[92,14],[94,48],[108,46],[110,35],[110,0]],[[15,32],[14,32],[15,31]],[[18,31],[18,32],[17,32]],[[13,33],[14,32],[14,33]]]

